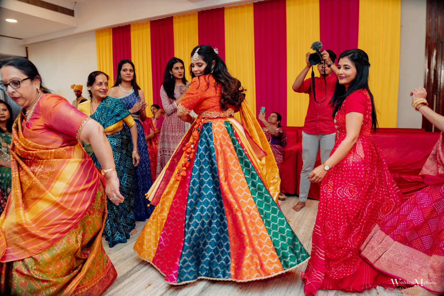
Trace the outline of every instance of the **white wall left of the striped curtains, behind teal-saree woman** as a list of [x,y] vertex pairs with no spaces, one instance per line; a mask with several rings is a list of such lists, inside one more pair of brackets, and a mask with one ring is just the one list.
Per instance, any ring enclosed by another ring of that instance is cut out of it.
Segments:
[[95,32],[29,46],[28,57],[52,92],[72,102],[71,84],[83,84],[83,96],[89,98],[87,78],[97,70]]

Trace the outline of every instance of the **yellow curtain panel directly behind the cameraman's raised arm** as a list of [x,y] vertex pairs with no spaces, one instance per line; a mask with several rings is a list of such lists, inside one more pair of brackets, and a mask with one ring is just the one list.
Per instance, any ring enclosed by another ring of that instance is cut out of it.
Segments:
[[[309,96],[293,91],[297,75],[305,67],[305,53],[320,39],[319,0],[287,0],[287,125],[303,126],[307,114]],[[315,75],[319,73],[314,69]],[[311,77],[311,70],[305,78]]]

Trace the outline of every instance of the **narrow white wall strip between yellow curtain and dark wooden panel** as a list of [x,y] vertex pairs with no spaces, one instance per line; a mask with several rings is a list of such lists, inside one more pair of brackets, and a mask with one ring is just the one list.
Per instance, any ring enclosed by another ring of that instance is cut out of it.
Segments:
[[424,86],[426,0],[401,0],[398,128],[421,128],[422,115],[412,108],[410,92]]

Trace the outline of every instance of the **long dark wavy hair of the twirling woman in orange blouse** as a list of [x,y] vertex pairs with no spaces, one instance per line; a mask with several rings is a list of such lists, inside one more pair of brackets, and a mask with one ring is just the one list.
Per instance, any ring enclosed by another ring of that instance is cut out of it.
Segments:
[[[202,59],[206,63],[205,71],[202,73],[202,76],[211,74],[213,75],[214,80],[216,80],[217,84],[222,85],[222,96],[219,102],[222,110],[227,110],[227,105],[232,105],[234,107],[238,107],[242,104],[242,101],[245,99],[245,91],[246,89],[242,88],[241,82],[230,75],[228,69],[226,68],[225,62],[214,52],[214,49],[210,45],[198,45],[191,51],[190,57],[194,56],[196,49],[198,49],[199,58]],[[211,67],[213,64],[214,67]],[[191,71],[190,65],[190,75],[191,77],[196,77]],[[200,80],[199,76],[199,80]]]

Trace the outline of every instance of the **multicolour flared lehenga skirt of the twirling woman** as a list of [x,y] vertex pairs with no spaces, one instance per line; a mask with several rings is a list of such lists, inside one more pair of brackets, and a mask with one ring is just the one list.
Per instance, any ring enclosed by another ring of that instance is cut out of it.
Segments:
[[198,135],[195,156],[179,181],[170,160],[150,190],[162,196],[135,243],[139,256],[170,284],[264,279],[307,260],[238,121],[208,119],[188,133]]

